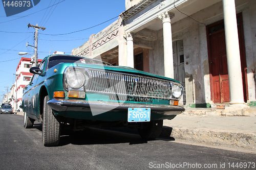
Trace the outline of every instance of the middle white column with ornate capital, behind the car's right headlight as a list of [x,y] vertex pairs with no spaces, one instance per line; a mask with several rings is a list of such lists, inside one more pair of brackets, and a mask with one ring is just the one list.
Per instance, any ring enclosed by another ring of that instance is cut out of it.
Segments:
[[170,24],[170,19],[173,17],[174,14],[167,11],[159,15],[163,21],[164,76],[168,78],[174,78],[172,26]]

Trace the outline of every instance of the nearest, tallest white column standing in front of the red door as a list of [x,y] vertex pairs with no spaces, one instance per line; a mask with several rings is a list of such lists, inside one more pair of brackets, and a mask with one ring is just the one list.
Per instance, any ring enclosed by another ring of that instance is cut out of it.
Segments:
[[243,104],[243,82],[239,51],[236,5],[234,0],[223,0],[227,69],[230,104]]

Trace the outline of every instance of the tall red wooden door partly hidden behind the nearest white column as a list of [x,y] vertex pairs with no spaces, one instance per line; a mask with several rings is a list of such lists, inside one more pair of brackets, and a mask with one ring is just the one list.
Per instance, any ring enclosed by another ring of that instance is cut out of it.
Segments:
[[[242,14],[237,15],[237,20],[238,20],[238,34],[239,34],[239,45],[240,45],[244,101],[246,102],[247,96],[248,96],[248,87],[247,87],[246,56],[245,56],[245,48],[244,48]],[[230,102],[224,21],[221,20],[210,26],[207,26],[207,35],[208,35],[207,38],[208,38],[211,100],[214,103]]]

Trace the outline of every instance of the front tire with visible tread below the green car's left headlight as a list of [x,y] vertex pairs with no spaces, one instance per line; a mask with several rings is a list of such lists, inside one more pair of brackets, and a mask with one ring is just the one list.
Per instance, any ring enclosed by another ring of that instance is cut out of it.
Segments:
[[46,147],[55,147],[60,141],[60,123],[48,106],[49,96],[45,96],[42,115],[42,143]]

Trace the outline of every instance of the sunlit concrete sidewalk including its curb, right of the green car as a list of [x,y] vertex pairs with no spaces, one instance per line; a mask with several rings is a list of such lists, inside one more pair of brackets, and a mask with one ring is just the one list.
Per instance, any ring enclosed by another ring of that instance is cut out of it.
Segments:
[[164,120],[162,136],[256,153],[256,116],[177,115]]

